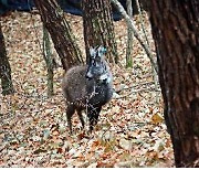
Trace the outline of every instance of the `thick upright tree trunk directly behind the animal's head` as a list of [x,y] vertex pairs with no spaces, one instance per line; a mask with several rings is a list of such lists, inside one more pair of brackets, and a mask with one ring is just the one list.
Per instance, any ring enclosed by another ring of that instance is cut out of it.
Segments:
[[109,0],[82,0],[86,56],[90,46],[104,45],[109,62],[118,62]]

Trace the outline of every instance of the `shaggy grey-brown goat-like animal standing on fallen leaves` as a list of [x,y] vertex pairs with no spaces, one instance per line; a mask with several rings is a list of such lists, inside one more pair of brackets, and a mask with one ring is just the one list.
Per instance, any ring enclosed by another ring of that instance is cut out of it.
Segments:
[[63,77],[62,88],[66,98],[66,117],[71,132],[71,117],[75,110],[84,128],[82,110],[86,109],[92,131],[97,124],[102,106],[112,98],[113,77],[104,59],[105,52],[103,46],[91,47],[88,64],[70,68]]

